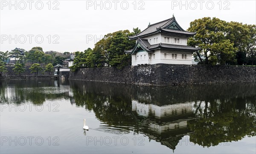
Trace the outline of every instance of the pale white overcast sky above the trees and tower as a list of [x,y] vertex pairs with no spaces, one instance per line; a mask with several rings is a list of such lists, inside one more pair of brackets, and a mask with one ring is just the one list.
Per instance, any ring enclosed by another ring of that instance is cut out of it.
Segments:
[[0,0],[0,51],[83,51],[105,34],[143,31],[172,14],[185,30],[202,17],[256,24],[256,0]]

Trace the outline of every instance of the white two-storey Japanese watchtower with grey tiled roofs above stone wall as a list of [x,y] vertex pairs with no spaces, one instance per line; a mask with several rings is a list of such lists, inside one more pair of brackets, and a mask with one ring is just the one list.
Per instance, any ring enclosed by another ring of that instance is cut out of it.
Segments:
[[199,48],[187,45],[187,38],[196,33],[183,30],[173,16],[149,24],[141,33],[130,36],[136,45],[125,53],[131,54],[132,65],[140,64],[192,64],[192,52]]

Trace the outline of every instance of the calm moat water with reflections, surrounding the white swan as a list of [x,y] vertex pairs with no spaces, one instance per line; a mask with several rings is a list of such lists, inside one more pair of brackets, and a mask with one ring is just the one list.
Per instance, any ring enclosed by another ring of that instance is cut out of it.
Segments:
[[0,110],[1,154],[256,153],[256,83],[0,81]]

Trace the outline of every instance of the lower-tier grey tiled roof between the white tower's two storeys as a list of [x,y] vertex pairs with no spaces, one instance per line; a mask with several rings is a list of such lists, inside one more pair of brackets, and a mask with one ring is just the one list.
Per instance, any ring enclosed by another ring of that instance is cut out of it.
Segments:
[[187,45],[172,45],[159,43],[155,45],[150,45],[147,39],[138,39],[135,47],[132,50],[126,50],[125,53],[136,54],[137,51],[143,49],[148,53],[154,52],[157,49],[172,49],[172,50],[185,50],[185,51],[196,51],[200,48],[190,47]]

